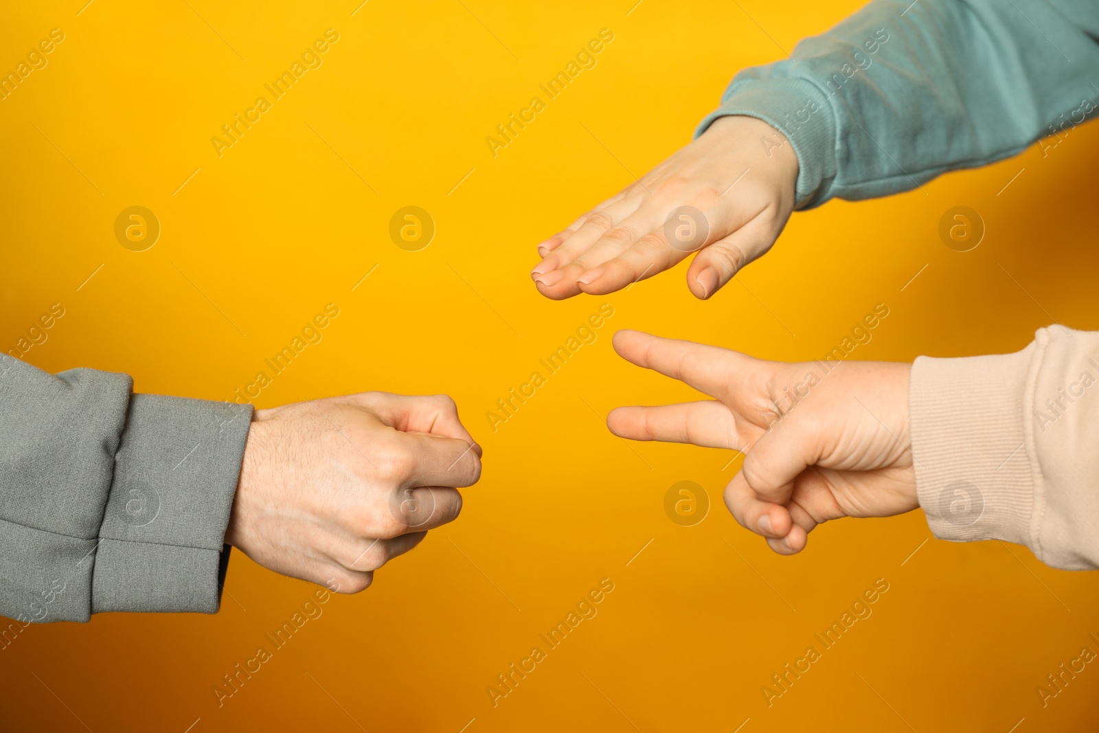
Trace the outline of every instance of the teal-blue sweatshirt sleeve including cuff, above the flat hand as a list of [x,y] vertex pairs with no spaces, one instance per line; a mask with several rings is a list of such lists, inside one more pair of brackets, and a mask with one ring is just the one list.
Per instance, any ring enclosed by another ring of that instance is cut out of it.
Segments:
[[737,74],[696,135],[726,114],[780,130],[804,209],[1015,155],[1097,107],[1097,0],[874,0]]

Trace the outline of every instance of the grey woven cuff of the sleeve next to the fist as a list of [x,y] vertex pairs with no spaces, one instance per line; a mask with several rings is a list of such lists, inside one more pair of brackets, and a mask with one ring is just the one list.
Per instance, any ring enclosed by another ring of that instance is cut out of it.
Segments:
[[134,395],[100,529],[92,612],[214,613],[251,406]]

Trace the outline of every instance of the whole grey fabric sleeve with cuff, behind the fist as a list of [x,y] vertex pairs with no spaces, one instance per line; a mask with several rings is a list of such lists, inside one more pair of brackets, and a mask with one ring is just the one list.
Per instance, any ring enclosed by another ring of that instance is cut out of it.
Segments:
[[0,614],[214,613],[252,407],[0,354]]

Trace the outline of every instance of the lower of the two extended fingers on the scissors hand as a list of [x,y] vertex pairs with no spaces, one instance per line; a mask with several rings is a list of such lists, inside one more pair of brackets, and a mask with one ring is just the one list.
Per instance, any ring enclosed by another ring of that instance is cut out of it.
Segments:
[[742,447],[733,413],[717,400],[615,408],[607,415],[607,426],[619,437],[631,441],[690,443],[708,448]]

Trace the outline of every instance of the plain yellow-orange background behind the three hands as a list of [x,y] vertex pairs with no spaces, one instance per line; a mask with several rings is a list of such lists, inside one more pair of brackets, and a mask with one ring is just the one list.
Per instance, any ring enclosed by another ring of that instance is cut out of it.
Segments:
[[[66,34],[0,102],[3,348],[60,302],[32,364],[224,400],[335,302],[323,342],[257,407],[447,392],[485,474],[457,522],[368,591],[330,600],[223,707],[214,685],[313,589],[240,553],[217,615],[27,629],[0,652],[0,728],[1094,729],[1094,665],[1044,709],[1035,693],[1083,646],[1099,651],[1094,574],[999,542],[921,544],[920,512],[832,523],[779,557],[721,503],[732,452],[628,444],[602,418],[691,397],[619,359],[622,327],[809,359],[884,302],[853,357],[904,360],[1014,351],[1053,320],[1099,329],[1099,127],[925,190],[795,214],[710,302],[688,293],[684,266],[552,302],[528,278],[540,240],[685,144],[737,69],[785,57],[858,3],[84,1],[8,7],[0,24],[2,69],[52,27]],[[341,35],[323,65],[218,157],[210,137],[329,27]],[[485,137],[602,27],[614,41],[598,65],[493,158]],[[967,253],[937,235],[959,204],[987,225]],[[130,206],[160,222],[145,252],[114,238]],[[436,225],[420,252],[388,236],[406,206]],[[492,432],[496,400],[604,301],[615,314],[598,341]],[[664,513],[681,480],[709,492],[697,526]],[[614,590],[598,615],[493,708],[486,687],[602,578]],[[761,687],[877,578],[889,591],[873,615],[767,708]]]

